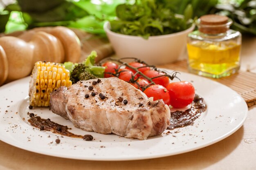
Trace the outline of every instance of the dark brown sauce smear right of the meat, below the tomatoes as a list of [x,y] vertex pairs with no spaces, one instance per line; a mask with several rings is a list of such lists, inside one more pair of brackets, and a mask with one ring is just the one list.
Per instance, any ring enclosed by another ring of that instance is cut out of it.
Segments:
[[203,100],[204,99],[199,95],[195,95],[191,108],[185,111],[177,110],[171,112],[170,126],[168,126],[167,129],[173,130],[175,128],[192,125],[195,119],[207,109],[207,105],[203,103]]

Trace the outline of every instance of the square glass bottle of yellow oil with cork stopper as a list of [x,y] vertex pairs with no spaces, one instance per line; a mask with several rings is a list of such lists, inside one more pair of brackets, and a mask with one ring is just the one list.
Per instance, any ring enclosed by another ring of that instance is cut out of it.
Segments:
[[220,78],[239,70],[241,34],[229,29],[231,23],[229,18],[220,15],[204,15],[198,20],[198,31],[188,35],[191,73]]

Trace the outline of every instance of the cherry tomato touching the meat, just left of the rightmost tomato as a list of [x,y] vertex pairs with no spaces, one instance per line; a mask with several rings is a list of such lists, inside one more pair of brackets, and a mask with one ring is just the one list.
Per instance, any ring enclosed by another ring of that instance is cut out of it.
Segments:
[[170,105],[170,95],[167,91],[167,89],[159,84],[154,84],[152,86],[149,86],[144,90],[144,93],[148,97],[153,97],[153,100],[163,99],[164,103],[167,105]]

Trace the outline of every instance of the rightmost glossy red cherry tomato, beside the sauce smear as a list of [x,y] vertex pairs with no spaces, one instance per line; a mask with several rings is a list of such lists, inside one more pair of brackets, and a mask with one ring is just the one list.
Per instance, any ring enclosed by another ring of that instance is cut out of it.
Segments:
[[194,86],[186,81],[170,83],[166,88],[170,94],[170,104],[175,108],[188,106],[195,97]]

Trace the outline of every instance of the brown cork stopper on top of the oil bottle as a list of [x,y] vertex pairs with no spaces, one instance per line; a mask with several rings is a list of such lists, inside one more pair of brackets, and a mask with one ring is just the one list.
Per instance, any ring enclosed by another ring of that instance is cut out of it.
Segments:
[[202,33],[216,34],[225,33],[229,30],[229,18],[227,16],[210,14],[200,17],[199,31]]

